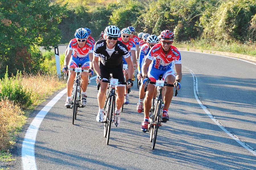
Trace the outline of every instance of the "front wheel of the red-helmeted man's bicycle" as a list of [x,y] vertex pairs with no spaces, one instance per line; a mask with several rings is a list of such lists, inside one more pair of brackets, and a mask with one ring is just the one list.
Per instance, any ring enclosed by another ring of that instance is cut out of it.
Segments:
[[151,149],[154,150],[155,145],[156,145],[156,136],[157,136],[157,131],[159,127],[159,122],[160,122],[160,113],[161,113],[161,106],[162,103],[160,100],[157,101],[156,107],[155,107],[155,115],[154,115],[154,122],[153,122],[153,135],[152,135],[152,147]]

